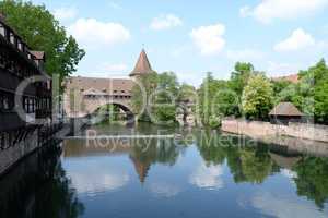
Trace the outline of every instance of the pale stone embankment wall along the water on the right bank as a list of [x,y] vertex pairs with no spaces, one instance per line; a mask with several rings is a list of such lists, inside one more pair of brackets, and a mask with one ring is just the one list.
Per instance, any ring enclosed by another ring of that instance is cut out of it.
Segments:
[[269,122],[223,120],[222,131],[261,138],[267,136],[291,136],[328,143],[328,126],[308,123],[289,123],[276,125]]

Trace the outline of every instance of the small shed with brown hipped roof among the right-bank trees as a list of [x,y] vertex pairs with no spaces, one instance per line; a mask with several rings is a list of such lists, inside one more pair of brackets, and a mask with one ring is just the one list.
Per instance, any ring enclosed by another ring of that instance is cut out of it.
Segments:
[[301,122],[303,113],[292,102],[280,102],[269,113],[272,124],[285,124]]

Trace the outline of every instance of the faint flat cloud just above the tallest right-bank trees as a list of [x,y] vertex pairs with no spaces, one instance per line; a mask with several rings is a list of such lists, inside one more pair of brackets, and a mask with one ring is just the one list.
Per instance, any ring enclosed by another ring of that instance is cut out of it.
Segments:
[[265,53],[255,49],[227,50],[226,57],[233,61],[261,60]]

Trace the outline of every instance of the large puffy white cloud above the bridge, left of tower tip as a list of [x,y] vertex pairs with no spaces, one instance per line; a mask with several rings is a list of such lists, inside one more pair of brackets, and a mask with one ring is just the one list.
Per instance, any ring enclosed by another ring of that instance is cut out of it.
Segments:
[[95,19],[79,19],[69,27],[79,44],[85,48],[103,48],[131,38],[129,29],[120,23],[104,23]]

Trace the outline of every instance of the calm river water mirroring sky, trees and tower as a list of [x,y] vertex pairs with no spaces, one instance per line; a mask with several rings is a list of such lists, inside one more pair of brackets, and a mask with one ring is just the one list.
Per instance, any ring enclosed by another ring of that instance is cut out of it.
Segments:
[[0,180],[0,217],[328,217],[326,154],[216,132],[149,125],[91,130],[178,134],[66,140],[62,153],[36,154]]

